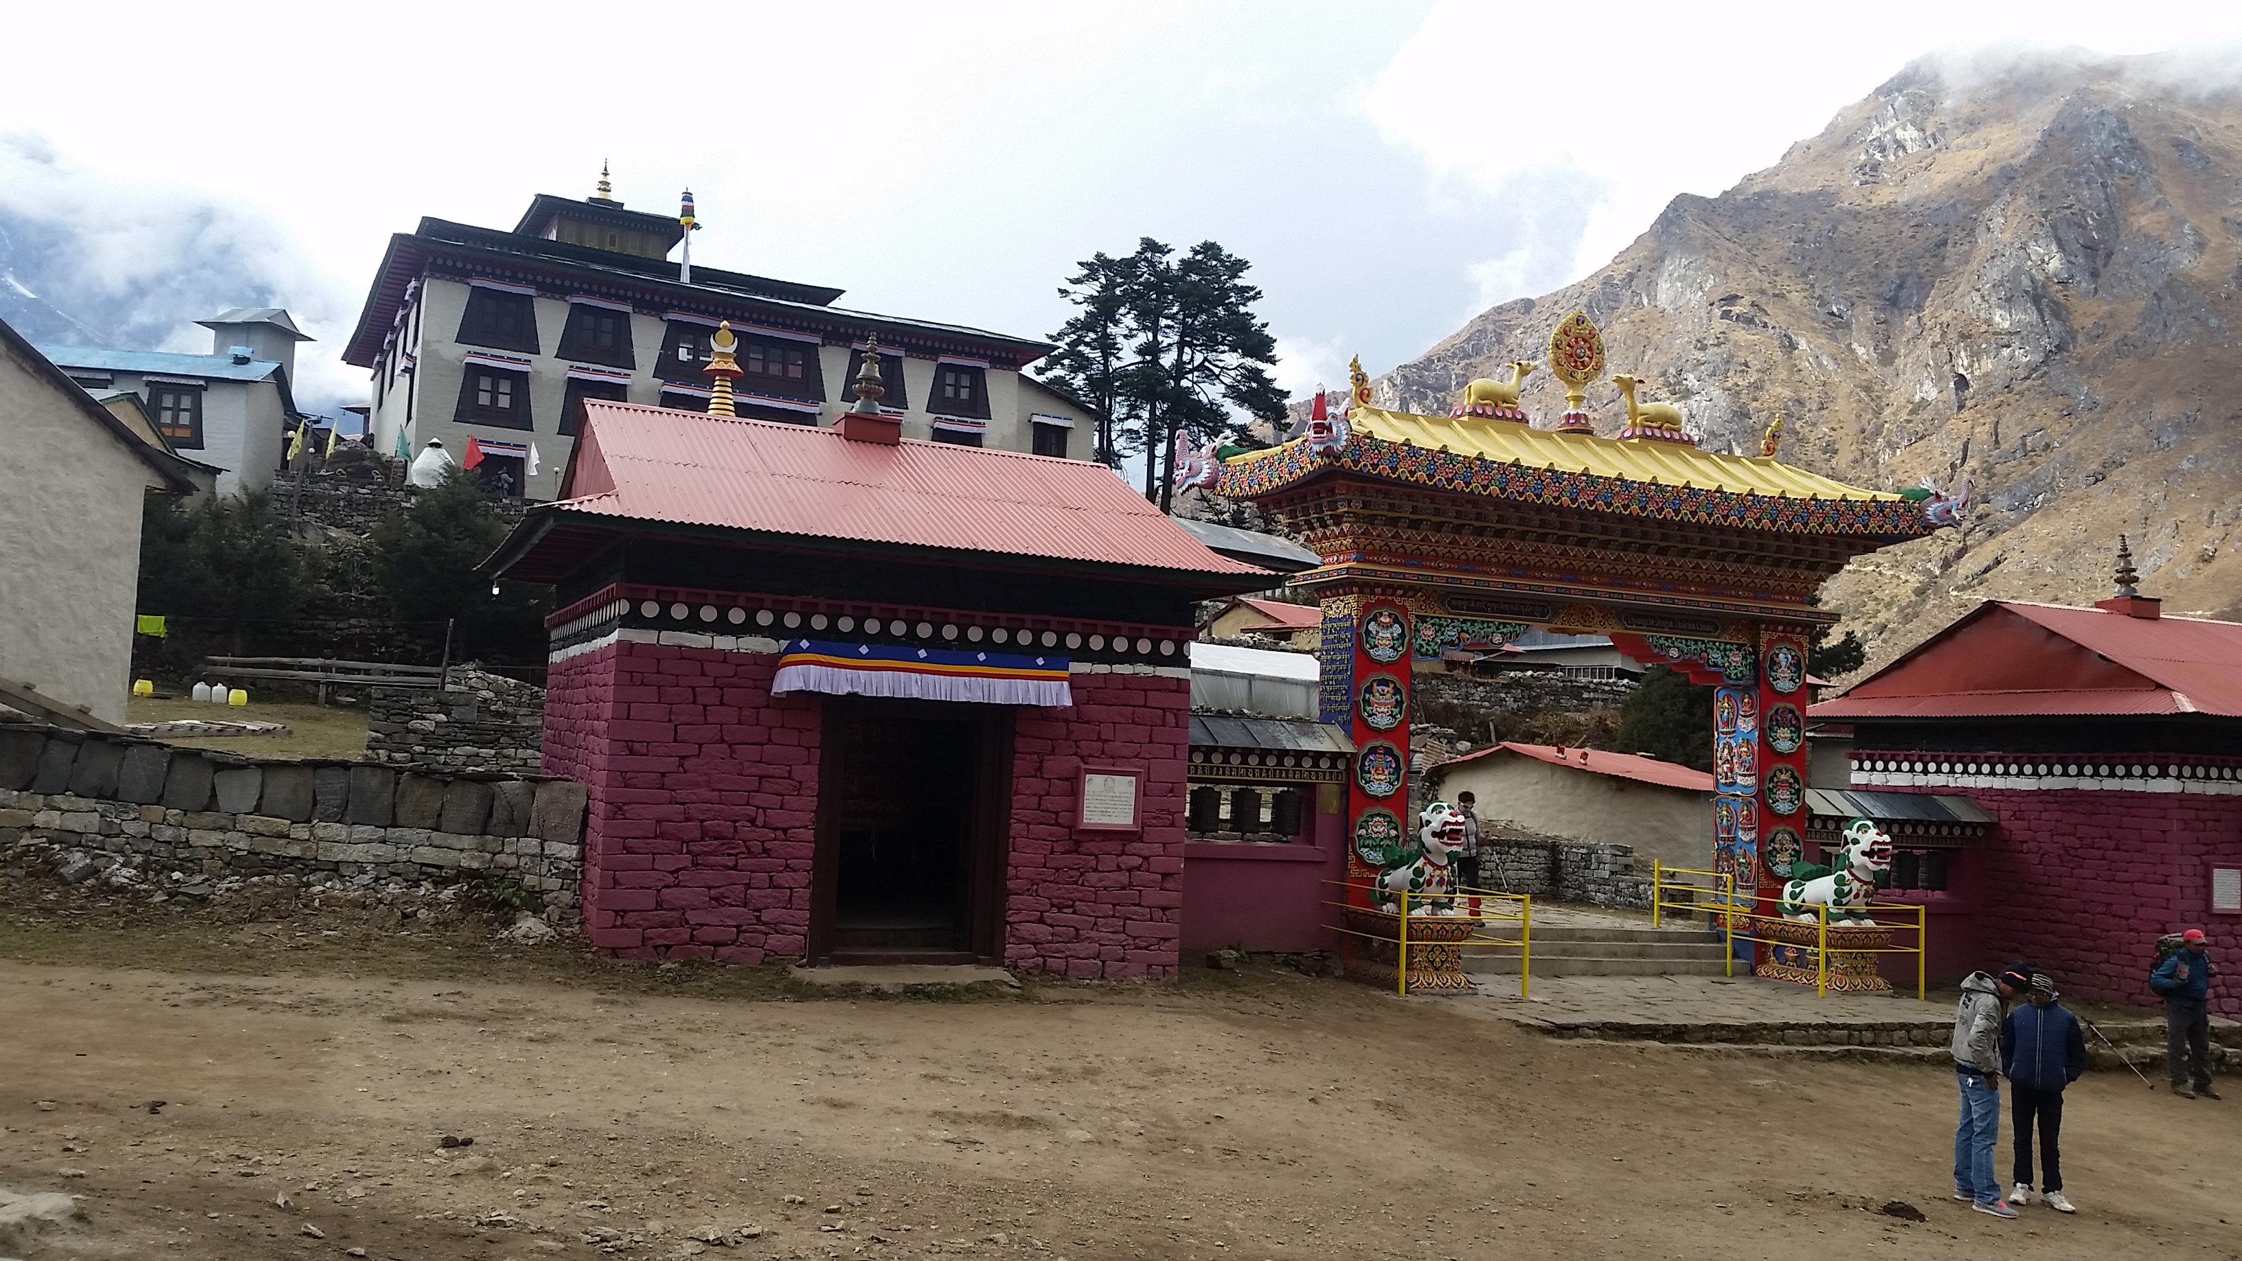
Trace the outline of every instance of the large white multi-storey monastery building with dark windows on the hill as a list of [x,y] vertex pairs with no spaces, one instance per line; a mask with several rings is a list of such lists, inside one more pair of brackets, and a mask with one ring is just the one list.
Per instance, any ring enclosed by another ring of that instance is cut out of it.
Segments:
[[[841,289],[666,260],[675,215],[538,195],[511,231],[424,218],[390,238],[343,361],[372,372],[370,442],[455,458],[475,438],[509,487],[560,489],[585,399],[704,411],[708,337],[740,339],[735,413],[834,424],[865,337],[904,438],[1087,460],[1092,411],[1020,372],[1045,341],[834,307]],[[538,471],[531,476],[529,453]]]

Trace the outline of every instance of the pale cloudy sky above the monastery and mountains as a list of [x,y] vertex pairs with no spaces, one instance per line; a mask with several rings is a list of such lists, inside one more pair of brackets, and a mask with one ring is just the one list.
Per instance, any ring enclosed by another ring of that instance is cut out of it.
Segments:
[[[1065,321],[1054,287],[1096,249],[1213,238],[1253,260],[1305,393],[1596,269],[1668,197],[1776,162],[1915,56],[2242,36],[2242,4],[2155,11],[38,4],[0,74],[0,213],[67,245],[43,294],[63,310],[209,305],[240,269],[224,303],[271,294],[318,339],[312,406],[363,397],[334,355],[392,231],[511,227],[603,159],[632,206],[693,188],[697,263],[1016,334]],[[146,339],[206,350],[200,314]]]

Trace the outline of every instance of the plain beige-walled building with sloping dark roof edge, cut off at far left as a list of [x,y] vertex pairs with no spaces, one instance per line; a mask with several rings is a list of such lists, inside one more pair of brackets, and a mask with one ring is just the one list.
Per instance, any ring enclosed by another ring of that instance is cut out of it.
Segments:
[[141,500],[188,469],[0,323],[0,680],[126,720]]

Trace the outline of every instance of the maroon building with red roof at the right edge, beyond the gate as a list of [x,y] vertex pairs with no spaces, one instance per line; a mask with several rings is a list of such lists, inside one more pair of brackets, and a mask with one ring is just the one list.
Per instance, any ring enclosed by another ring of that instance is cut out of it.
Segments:
[[[2130,583],[2130,572],[2119,579]],[[2074,994],[2152,1005],[2159,933],[2242,929],[2242,624],[1986,601],[1812,718],[1852,722],[1868,794],[1966,794],[1995,823],[1921,828],[1933,981],[2011,958]],[[1944,832],[1944,835],[1939,835]],[[2213,983],[2242,1016],[2242,969]]]

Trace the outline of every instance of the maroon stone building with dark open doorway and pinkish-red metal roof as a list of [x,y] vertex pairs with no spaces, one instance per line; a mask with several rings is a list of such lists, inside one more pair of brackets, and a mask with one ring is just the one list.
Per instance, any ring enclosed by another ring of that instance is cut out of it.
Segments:
[[558,588],[594,945],[1175,974],[1193,608],[1269,572],[1099,464],[585,415],[493,570]]

